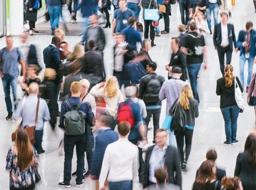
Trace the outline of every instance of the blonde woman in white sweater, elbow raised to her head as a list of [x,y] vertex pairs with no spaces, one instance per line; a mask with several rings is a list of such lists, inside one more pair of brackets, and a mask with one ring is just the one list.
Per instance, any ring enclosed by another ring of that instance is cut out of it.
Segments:
[[110,123],[108,124],[113,130],[116,127],[116,113],[118,104],[124,101],[124,97],[119,89],[118,81],[116,77],[109,77],[104,83],[101,82],[95,85],[91,91],[91,95],[94,97],[103,97],[106,102],[105,115],[110,116]]

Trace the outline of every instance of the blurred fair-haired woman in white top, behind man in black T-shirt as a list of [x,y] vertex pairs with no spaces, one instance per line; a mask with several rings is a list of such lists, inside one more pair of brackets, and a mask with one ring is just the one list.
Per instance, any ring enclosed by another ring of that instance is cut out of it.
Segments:
[[208,28],[207,21],[204,19],[204,14],[196,10],[193,19],[196,21],[196,27],[197,27],[197,33],[198,34],[203,34],[204,36],[206,34],[210,34],[210,30]]

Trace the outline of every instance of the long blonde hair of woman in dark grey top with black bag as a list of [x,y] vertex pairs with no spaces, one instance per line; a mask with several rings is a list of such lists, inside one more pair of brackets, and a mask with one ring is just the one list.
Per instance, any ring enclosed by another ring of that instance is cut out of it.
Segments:
[[191,87],[189,85],[185,85],[182,87],[181,89],[181,93],[180,93],[180,100],[179,100],[179,104],[180,106],[185,109],[188,110],[189,109],[189,99],[193,99],[193,91],[191,89]]

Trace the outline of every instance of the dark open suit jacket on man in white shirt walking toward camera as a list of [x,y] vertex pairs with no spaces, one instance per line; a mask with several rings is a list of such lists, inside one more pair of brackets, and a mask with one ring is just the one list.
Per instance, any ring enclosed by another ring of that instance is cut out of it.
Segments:
[[[233,24],[227,24],[227,33],[229,36],[229,49],[233,51],[233,43],[235,48],[237,48],[236,34],[235,34]],[[222,42],[221,23],[219,23],[215,25],[214,32],[213,32],[213,43],[214,43],[215,49],[221,46],[221,42]]]

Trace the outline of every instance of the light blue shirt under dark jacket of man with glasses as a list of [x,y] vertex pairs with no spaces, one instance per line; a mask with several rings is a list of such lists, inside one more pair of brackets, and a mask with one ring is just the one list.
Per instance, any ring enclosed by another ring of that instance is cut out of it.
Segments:
[[157,182],[154,177],[155,170],[164,167],[165,154],[166,154],[167,147],[168,146],[165,145],[163,149],[160,150],[158,145],[156,144],[153,148],[153,151],[149,159],[149,178],[148,178],[148,180],[152,183]]

